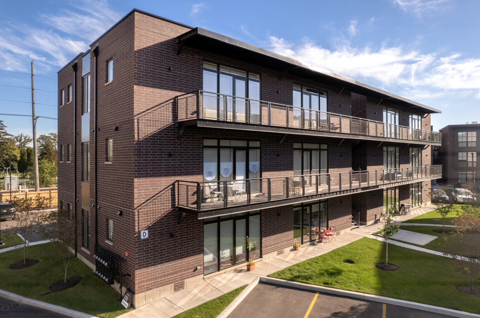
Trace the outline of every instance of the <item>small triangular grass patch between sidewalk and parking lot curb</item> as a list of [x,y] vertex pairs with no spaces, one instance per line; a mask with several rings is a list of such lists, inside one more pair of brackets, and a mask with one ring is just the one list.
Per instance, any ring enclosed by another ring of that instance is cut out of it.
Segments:
[[188,309],[172,318],[215,318],[237,297],[247,285],[216,297],[202,305]]

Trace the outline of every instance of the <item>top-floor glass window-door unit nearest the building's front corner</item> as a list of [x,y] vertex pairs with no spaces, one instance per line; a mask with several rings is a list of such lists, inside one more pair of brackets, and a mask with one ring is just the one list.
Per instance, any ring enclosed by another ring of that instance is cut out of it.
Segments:
[[[261,122],[260,103],[257,102],[260,100],[259,74],[204,62],[203,75],[204,91],[227,95],[204,93],[202,103],[202,116],[204,118],[251,123]],[[254,101],[249,104],[245,98]]]

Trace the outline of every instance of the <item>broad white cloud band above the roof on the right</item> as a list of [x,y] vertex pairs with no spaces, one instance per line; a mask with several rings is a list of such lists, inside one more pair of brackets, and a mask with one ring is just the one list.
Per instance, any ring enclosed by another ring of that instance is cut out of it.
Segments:
[[[334,50],[318,46],[309,39],[300,44],[270,36],[269,46],[276,53],[298,59],[313,68],[326,69],[375,85],[399,85],[410,98],[434,98],[445,91],[480,92],[480,59],[461,59],[458,54],[437,57],[401,46],[383,44],[378,49],[351,47],[339,39]],[[480,98],[480,93],[477,95]]]

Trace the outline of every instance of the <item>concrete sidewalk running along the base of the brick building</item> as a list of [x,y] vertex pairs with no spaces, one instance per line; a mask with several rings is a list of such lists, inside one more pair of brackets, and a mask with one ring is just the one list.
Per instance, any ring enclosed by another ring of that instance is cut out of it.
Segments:
[[[395,223],[400,223],[411,219],[417,215],[434,210],[434,206],[428,206],[413,210],[408,215],[402,215],[395,218]],[[383,223],[374,223],[367,226],[360,226],[342,235],[336,236],[336,240],[327,244],[304,245],[300,251],[293,250],[271,259],[259,260],[256,262],[254,271],[247,271],[246,268],[233,269],[225,273],[219,273],[214,276],[205,277],[202,283],[181,290],[180,292],[170,294],[154,302],[146,304],[126,314],[122,318],[170,318],[185,310],[201,305],[222,294],[226,294],[240,286],[248,285],[257,277],[257,275],[269,275],[273,272],[282,270],[288,266],[300,263],[306,259],[325,254],[335,248],[345,246],[362,237],[371,236],[377,232]]]

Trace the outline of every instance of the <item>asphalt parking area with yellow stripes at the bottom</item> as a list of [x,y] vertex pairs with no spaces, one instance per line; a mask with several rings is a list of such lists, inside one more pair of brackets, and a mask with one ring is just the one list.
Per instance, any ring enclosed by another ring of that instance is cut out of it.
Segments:
[[450,318],[417,309],[259,283],[228,318]]

